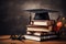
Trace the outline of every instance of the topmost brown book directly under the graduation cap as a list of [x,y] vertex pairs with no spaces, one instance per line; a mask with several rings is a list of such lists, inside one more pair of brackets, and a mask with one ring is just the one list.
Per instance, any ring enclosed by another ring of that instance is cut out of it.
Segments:
[[52,21],[50,20],[33,20],[31,21],[31,24],[32,25],[45,25],[45,26],[48,26],[48,25],[52,25]]

